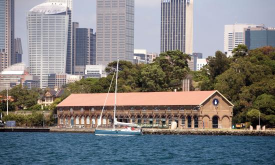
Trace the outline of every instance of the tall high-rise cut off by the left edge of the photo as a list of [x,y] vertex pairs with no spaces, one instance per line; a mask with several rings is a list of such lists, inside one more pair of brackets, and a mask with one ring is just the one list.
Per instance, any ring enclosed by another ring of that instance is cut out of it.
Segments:
[[14,0],[0,0],[0,71],[13,63]]

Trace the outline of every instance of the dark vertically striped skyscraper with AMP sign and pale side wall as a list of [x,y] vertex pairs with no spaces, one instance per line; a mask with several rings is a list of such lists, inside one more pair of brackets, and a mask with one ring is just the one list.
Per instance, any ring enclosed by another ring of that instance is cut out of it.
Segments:
[[161,0],[160,51],[192,54],[193,0]]

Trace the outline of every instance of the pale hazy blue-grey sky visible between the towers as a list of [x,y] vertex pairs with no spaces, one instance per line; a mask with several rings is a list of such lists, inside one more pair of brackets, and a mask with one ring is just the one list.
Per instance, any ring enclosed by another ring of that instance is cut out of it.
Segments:
[[[15,37],[28,63],[26,14],[45,0],[15,0]],[[275,0],[194,0],[193,51],[203,57],[223,51],[224,24],[253,23],[275,27]],[[134,48],[160,51],[160,0],[135,0]],[[96,0],[73,0],[72,20],[96,30]]]

